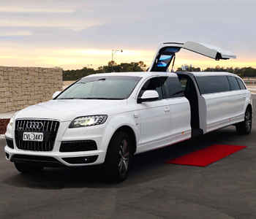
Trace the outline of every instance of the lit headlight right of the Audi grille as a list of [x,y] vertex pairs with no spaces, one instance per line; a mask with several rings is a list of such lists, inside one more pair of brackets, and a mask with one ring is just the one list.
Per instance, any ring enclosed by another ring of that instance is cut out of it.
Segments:
[[75,118],[75,120],[70,123],[69,128],[79,128],[86,126],[97,126],[105,123],[108,115],[90,115]]

